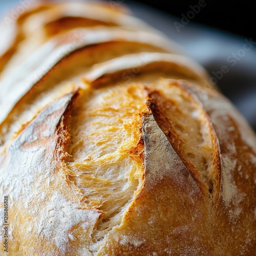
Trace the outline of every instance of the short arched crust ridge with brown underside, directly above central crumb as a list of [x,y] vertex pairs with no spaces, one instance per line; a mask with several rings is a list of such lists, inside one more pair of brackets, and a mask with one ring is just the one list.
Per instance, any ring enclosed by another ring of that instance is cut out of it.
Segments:
[[165,76],[193,80],[202,86],[205,85],[204,80],[208,79],[205,70],[185,56],[148,52],[129,54],[95,65],[83,79],[93,87],[100,87],[108,82],[124,79],[131,73],[135,76],[157,71],[163,72]]

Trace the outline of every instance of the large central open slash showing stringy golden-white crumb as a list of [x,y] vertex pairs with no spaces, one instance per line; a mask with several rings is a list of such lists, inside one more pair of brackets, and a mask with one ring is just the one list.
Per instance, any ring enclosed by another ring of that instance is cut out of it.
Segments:
[[102,212],[93,234],[97,242],[121,223],[142,184],[140,114],[147,111],[146,95],[132,84],[92,90],[78,101],[66,163],[88,207]]

